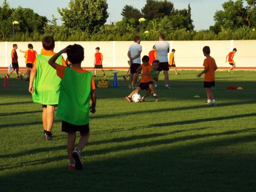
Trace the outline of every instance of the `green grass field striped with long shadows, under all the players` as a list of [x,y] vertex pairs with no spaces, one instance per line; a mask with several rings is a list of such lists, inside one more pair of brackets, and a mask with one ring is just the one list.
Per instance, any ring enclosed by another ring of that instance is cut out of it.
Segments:
[[[13,75],[5,88],[1,74],[0,191],[255,191],[256,72],[217,71],[217,107],[203,105],[198,71],[180,73],[169,72],[169,90],[160,76],[159,102],[126,102],[125,72],[120,88],[97,89],[82,171],[67,170],[61,121],[53,125],[55,140],[44,141],[41,105],[32,103],[28,82]],[[111,71],[107,76],[112,84]]]

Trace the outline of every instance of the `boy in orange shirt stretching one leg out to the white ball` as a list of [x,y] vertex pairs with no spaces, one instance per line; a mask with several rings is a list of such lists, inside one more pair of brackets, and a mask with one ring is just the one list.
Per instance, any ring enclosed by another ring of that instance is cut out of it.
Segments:
[[140,72],[141,70],[143,71],[143,73],[141,74],[140,84],[134,91],[131,92],[129,96],[125,97],[125,99],[128,102],[131,102],[131,96],[133,96],[135,93],[139,93],[140,90],[148,90],[148,89],[150,89],[151,93],[153,93],[155,101],[158,101],[158,96],[153,86],[152,66],[148,63],[149,57],[147,55],[144,55],[142,58],[142,62],[143,64],[137,69],[137,72]]

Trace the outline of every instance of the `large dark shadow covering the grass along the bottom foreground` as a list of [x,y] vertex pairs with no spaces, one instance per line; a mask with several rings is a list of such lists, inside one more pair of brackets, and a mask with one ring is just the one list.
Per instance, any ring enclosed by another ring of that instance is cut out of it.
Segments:
[[[250,155],[253,154],[253,151],[250,151],[249,154],[242,150],[230,151],[230,147],[250,144],[256,140],[256,135],[232,134],[251,132],[252,130],[254,129],[195,135],[192,138],[157,140],[144,143],[143,147],[154,145],[163,147],[145,151],[137,151],[137,148],[141,148],[143,144],[134,143],[122,149],[118,148],[118,150],[122,150],[120,152],[125,152],[124,154],[116,153],[111,157],[95,158],[89,162],[87,162],[86,155],[95,155],[97,151],[95,153],[95,151],[84,150],[84,169],[82,171],[70,172],[63,162],[61,165],[56,163],[47,165],[67,159],[67,156],[64,155],[38,161],[27,161],[25,164],[17,166],[25,166],[22,171],[0,175],[0,182],[5,183],[1,186],[1,190],[46,191],[49,189],[48,186],[54,186],[55,191],[74,191],[74,186],[76,186],[75,191],[86,189],[87,191],[102,192],[253,191],[256,187],[255,170],[252,169],[255,167],[255,154]],[[166,145],[175,140],[203,139],[220,134],[230,135],[230,137]],[[216,154],[216,149],[221,152]],[[104,151],[105,153],[109,152],[106,149]],[[113,148],[112,151],[116,151],[116,148]],[[35,169],[26,169],[26,166],[29,165],[35,166]],[[42,183],[45,176],[47,176],[47,185]]]

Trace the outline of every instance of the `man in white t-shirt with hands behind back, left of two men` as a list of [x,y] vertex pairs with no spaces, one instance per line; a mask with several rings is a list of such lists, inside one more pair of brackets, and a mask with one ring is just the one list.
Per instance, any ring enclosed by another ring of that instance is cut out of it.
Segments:
[[131,73],[129,79],[129,88],[135,89],[137,81],[137,69],[140,67],[140,54],[142,52],[142,46],[140,45],[140,36],[134,36],[134,44],[131,44],[127,53],[128,58],[131,61]]

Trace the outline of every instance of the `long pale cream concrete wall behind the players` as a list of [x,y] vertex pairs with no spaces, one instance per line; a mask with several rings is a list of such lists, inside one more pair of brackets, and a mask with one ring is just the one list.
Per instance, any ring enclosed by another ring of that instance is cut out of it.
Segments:
[[[32,43],[34,49],[40,53],[41,42],[0,42],[0,67],[11,64],[12,44],[17,44],[18,61],[20,67],[25,67],[23,53],[19,50],[27,50],[27,44]],[[82,67],[93,67],[93,56],[95,48],[100,47],[104,56],[105,67],[128,67],[127,52],[132,41],[79,41],[79,42],[55,42],[55,52],[63,49],[69,44],[81,44],[84,47],[84,61]],[[171,49],[176,49],[175,62],[177,67],[201,67],[204,61],[202,48],[209,46],[211,55],[215,58],[218,67],[229,67],[225,63],[225,57],[234,47],[238,49],[234,60],[237,67],[256,67],[256,40],[248,41],[168,41]],[[155,41],[141,41],[142,55],[148,55]],[[66,54],[63,55],[67,57]]]

